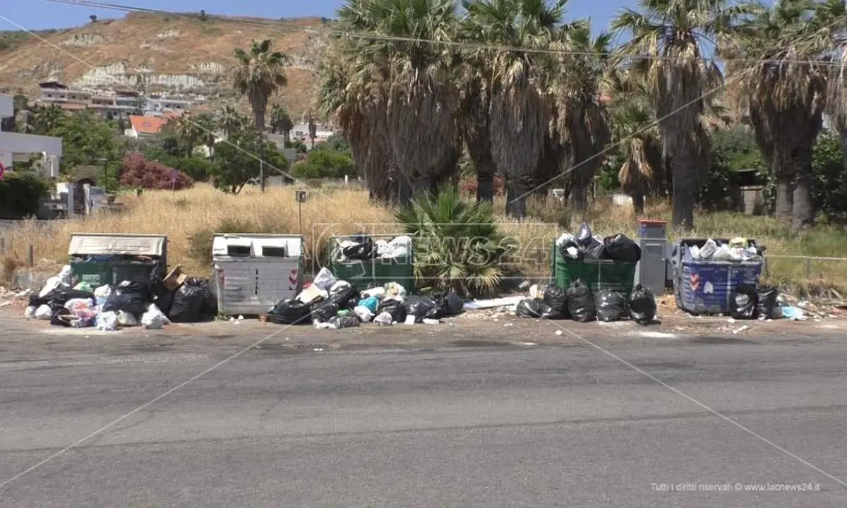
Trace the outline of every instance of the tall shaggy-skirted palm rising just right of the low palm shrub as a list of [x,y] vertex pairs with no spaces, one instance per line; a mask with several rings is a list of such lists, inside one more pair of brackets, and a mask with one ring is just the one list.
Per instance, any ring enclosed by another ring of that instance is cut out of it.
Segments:
[[[478,118],[478,130],[469,138],[468,152],[478,171],[490,171],[487,153],[495,168],[507,178],[507,213],[523,218],[525,194],[545,152],[551,105],[545,97],[548,76],[542,53],[490,49],[492,46],[547,49],[561,30],[567,0],[547,4],[537,0],[465,0],[462,33],[479,45],[468,50],[466,60],[477,66],[474,79],[465,86],[470,109]],[[484,47],[488,46],[488,47]],[[484,111],[487,106],[487,111]],[[488,131],[490,142],[480,139]],[[473,148],[471,147],[473,145]],[[482,169],[480,169],[482,168]],[[487,175],[486,175],[487,178]]]

